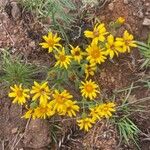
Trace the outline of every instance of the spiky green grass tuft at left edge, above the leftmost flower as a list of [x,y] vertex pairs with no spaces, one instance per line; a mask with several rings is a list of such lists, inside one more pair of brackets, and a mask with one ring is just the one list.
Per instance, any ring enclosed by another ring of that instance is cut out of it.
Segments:
[[2,50],[0,81],[5,85],[30,85],[38,72],[36,66],[23,63],[20,58],[13,58],[7,50]]

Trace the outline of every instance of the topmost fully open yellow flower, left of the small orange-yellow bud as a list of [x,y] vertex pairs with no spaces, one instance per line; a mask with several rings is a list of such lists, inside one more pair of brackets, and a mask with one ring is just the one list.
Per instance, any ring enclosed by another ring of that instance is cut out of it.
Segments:
[[84,31],[84,35],[87,38],[92,38],[93,40],[101,41],[101,42],[104,42],[105,35],[107,33],[108,32],[106,32],[106,28],[105,28],[105,25],[103,23],[102,24],[96,24],[93,31],[89,31],[89,30]]

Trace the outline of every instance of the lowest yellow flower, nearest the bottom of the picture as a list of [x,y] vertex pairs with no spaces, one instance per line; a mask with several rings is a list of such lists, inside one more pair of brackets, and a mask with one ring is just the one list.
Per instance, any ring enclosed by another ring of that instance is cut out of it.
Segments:
[[94,124],[95,121],[92,118],[82,118],[77,120],[77,124],[80,127],[80,130],[89,131],[90,128],[92,128],[92,124]]

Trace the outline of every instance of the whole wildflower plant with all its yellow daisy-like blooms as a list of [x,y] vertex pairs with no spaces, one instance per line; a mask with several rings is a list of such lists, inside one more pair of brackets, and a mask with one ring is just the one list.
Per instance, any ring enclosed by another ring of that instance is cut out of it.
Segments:
[[[55,64],[48,71],[47,78],[40,83],[34,81],[28,101],[19,97],[23,95],[28,98],[22,85],[15,85],[20,88],[19,92],[11,87],[9,93],[10,97],[15,98],[13,102],[27,102],[23,118],[76,117],[80,129],[89,131],[98,120],[112,117],[116,111],[115,102],[100,100],[102,89],[91,76],[108,59],[136,47],[133,35],[125,31],[123,37],[115,37],[103,23],[97,23],[93,30],[86,30],[84,35],[89,41],[86,46],[62,45],[61,38],[52,32],[43,36],[40,45],[55,57]],[[69,91],[66,85],[73,87],[74,91]],[[79,99],[74,98],[75,92]]]

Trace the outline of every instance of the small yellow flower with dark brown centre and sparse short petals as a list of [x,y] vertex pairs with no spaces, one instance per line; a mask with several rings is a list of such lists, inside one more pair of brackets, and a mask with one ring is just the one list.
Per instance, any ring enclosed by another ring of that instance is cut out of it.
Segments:
[[71,47],[71,54],[73,55],[74,60],[80,63],[80,61],[83,58],[84,52],[81,51],[79,46],[73,47],[72,45],[70,45],[70,47]]

